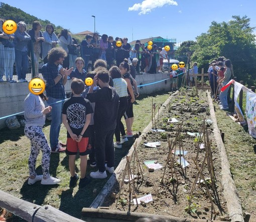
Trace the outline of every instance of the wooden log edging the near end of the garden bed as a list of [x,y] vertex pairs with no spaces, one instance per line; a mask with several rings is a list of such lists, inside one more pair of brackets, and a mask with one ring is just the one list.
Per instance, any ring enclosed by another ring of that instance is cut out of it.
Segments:
[[[93,209],[93,208],[83,208],[82,209],[83,216],[86,216],[87,221],[90,221],[89,217],[96,218],[96,220],[92,221],[104,221],[103,219],[109,219],[106,221],[111,221],[115,219],[115,221],[136,221],[139,218],[151,218],[151,221],[154,221],[154,218],[162,219],[167,222],[218,222],[217,220],[209,220],[209,219],[189,219],[189,218],[181,218],[172,215],[157,215],[150,213],[138,213],[138,212],[127,212],[120,210],[110,210],[110,209]],[[102,220],[97,220],[97,218],[101,218]],[[111,219],[111,220],[110,220]]]

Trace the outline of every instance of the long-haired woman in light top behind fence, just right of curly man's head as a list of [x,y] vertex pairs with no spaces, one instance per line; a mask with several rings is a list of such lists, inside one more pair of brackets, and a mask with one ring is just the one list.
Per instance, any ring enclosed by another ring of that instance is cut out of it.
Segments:
[[[60,32],[60,35],[58,36],[60,41],[60,46],[67,52],[68,54],[68,45],[72,45],[72,37],[71,34],[68,33],[67,29],[63,29]],[[72,58],[68,54],[68,58],[63,61],[63,68],[69,68],[69,64],[72,64],[72,61],[70,61]]]

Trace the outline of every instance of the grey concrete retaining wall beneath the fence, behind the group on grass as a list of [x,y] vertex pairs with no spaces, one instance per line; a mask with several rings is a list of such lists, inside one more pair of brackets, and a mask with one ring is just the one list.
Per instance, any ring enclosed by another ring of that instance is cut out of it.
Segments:
[[[147,74],[136,76],[138,86],[168,79],[167,73]],[[70,93],[71,80],[65,85],[65,91]],[[138,87],[140,94],[150,94],[165,90],[170,91],[170,79],[149,86]],[[24,111],[24,99],[29,94],[28,83],[1,83],[0,84],[0,118]],[[0,129],[6,127],[5,119],[0,119]]]

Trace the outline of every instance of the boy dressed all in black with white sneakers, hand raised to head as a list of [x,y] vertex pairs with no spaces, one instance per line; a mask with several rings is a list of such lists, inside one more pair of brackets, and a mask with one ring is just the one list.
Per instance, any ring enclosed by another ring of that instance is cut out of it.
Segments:
[[[98,68],[93,78],[86,98],[95,102],[94,127],[95,127],[95,157],[98,170],[91,172],[90,176],[95,179],[107,177],[114,172],[114,144],[113,135],[116,126],[119,96],[115,89],[109,86],[109,73],[105,68]],[[96,93],[93,88],[99,85]],[[107,164],[105,165],[105,160]]]

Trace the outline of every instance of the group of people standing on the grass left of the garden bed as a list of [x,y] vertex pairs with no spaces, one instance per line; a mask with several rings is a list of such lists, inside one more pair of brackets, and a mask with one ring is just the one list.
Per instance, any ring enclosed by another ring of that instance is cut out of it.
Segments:
[[[53,48],[48,52],[47,63],[42,67],[42,76],[46,83],[44,94],[29,94],[25,99],[25,135],[31,141],[29,157],[28,184],[41,180],[41,184],[56,184],[60,180],[50,176],[50,154],[66,152],[69,156],[70,187],[78,181],[75,173],[75,158],[80,155],[79,188],[90,182],[90,177],[102,179],[106,171],[114,172],[114,148],[133,137],[133,103],[139,96],[136,80],[130,74],[128,60],[124,59],[119,67],[107,70],[107,62],[98,59],[94,71],[86,72],[82,57],[75,59],[75,69],[63,68],[67,52]],[[104,56],[103,56],[104,57]],[[72,95],[66,100],[64,85],[67,78],[72,79]],[[85,85],[85,78],[92,78],[91,86]],[[48,107],[45,108],[43,100]],[[45,115],[51,112],[49,143],[43,133]],[[124,117],[126,131],[121,118]],[[67,129],[67,142],[59,141],[61,123]],[[115,135],[115,142],[113,142]],[[43,175],[35,172],[36,159],[42,150]],[[87,155],[89,159],[87,160]],[[98,168],[86,176],[87,164]]]

